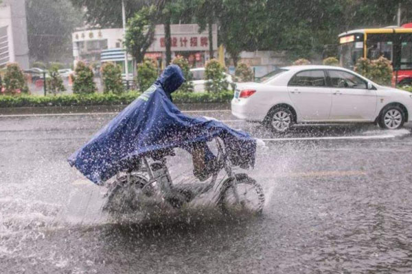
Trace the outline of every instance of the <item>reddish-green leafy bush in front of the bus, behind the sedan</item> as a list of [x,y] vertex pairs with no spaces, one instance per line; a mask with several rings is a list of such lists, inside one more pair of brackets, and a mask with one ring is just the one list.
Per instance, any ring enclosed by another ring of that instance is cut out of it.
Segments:
[[356,62],[355,71],[380,85],[390,85],[393,68],[391,61],[381,56],[376,60],[359,58]]

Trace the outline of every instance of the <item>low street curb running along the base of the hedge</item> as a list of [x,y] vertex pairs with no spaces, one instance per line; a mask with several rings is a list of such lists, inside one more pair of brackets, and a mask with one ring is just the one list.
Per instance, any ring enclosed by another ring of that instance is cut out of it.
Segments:
[[[120,112],[127,105],[76,105],[53,107],[0,108],[0,115],[13,114],[66,114],[93,112]],[[229,103],[176,103],[180,110],[230,110]]]

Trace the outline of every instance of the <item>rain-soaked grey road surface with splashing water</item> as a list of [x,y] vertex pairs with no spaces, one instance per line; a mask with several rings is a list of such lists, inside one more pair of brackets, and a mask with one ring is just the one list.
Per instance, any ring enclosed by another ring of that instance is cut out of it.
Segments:
[[[247,173],[264,214],[195,208],[115,221],[104,188],[66,158],[114,114],[0,117],[1,273],[411,273],[412,135],[374,125],[299,126],[266,140]],[[171,169],[190,173],[180,152]]]

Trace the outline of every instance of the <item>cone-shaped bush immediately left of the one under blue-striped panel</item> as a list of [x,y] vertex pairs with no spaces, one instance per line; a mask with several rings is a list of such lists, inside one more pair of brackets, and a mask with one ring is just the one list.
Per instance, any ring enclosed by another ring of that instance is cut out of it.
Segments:
[[73,79],[73,93],[87,94],[96,91],[96,84],[93,82],[93,70],[84,62],[78,62],[74,71],[75,75],[71,75]]

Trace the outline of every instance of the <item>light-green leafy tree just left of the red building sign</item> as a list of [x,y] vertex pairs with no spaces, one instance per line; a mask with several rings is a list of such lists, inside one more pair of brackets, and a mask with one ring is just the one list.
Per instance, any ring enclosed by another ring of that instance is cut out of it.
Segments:
[[125,45],[127,51],[133,55],[137,63],[144,59],[144,55],[155,38],[155,6],[144,7],[129,19],[126,30]]

